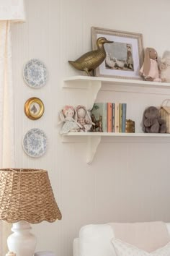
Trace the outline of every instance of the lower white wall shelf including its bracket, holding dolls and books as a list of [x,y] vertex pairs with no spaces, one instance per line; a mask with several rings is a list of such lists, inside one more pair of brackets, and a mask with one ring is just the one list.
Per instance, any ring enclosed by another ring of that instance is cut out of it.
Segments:
[[[84,139],[83,141],[86,142],[87,144],[87,150],[86,150],[86,163],[91,163],[94,159],[94,155],[97,153],[97,148],[99,146],[99,143],[102,140],[102,137],[117,137],[117,140],[119,137],[129,137],[129,138],[140,138],[141,140],[144,140],[144,138],[147,138],[147,142],[148,139],[151,138],[151,140],[149,140],[149,142],[153,142],[152,138],[158,138],[158,141],[162,142],[161,138],[170,138],[170,134],[169,133],[143,133],[143,132],[138,132],[138,133],[118,133],[118,132],[68,132],[67,135],[63,135],[63,142],[79,142],[79,139]],[[143,139],[142,139],[143,137]],[[82,141],[82,140],[81,140]],[[156,142],[158,142],[156,140]],[[110,141],[109,142],[114,142],[114,141]],[[146,142],[146,141],[145,141]],[[166,140],[167,142],[167,140]],[[169,140],[170,142],[170,140]]]

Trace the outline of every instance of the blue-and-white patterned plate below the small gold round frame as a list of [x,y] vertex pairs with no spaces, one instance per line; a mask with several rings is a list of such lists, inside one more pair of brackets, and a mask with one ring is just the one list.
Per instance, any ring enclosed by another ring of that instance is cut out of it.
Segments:
[[24,152],[32,158],[44,155],[47,149],[47,137],[41,129],[30,129],[23,140]]

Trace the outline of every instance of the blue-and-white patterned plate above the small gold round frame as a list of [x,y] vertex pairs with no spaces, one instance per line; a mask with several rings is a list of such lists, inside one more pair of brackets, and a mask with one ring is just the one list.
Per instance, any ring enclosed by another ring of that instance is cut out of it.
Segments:
[[31,59],[24,66],[24,81],[32,88],[41,88],[48,80],[45,64],[38,59]]

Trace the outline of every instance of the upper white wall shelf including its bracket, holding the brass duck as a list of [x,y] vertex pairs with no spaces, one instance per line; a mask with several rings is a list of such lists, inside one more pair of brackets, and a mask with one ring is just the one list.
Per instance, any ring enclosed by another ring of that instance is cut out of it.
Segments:
[[[109,88],[108,88],[109,86]],[[131,79],[120,79],[120,78],[109,78],[109,77],[87,77],[87,76],[76,76],[68,77],[63,80],[63,88],[74,88],[74,89],[86,89],[86,108],[91,109],[96,101],[99,90],[121,90],[124,87],[126,90],[133,90],[140,93],[148,93],[148,90],[158,94],[161,89],[164,89],[164,94],[170,93],[169,82],[148,82],[143,80],[131,80]],[[167,89],[168,92],[165,90]],[[161,92],[163,93],[163,92]]]

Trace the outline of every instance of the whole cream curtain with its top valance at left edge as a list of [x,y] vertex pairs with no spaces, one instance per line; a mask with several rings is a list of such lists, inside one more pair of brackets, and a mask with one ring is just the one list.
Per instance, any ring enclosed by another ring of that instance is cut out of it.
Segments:
[[[12,22],[24,21],[23,0],[0,0],[0,168],[14,168]],[[0,256],[7,251],[10,225],[0,221]]]

